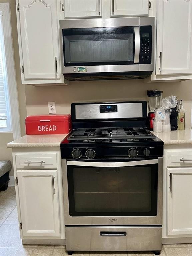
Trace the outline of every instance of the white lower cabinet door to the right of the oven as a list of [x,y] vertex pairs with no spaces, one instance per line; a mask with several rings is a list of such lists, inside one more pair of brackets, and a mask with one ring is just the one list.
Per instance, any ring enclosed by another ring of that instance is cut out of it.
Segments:
[[167,235],[192,235],[192,168],[167,168]]

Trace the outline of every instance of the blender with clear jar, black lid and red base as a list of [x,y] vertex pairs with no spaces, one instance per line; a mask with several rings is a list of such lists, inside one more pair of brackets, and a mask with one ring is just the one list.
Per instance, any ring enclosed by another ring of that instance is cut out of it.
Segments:
[[147,127],[149,131],[153,131],[153,120],[155,118],[155,109],[162,105],[162,93],[158,90],[147,90],[149,114],[147,117]]

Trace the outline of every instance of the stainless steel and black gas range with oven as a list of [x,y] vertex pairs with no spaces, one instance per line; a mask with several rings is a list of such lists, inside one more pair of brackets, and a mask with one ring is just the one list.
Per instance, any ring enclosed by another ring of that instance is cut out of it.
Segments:
[[162,241],[163,142],[146,101],[73,103],[61,143],[66,248],[154,251]]

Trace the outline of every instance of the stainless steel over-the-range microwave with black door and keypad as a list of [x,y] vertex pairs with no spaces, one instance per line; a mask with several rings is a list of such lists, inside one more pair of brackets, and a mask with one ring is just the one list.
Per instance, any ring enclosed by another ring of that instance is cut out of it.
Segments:
[[62,71],[68,80],[150,76],[154,17],[60,21]]

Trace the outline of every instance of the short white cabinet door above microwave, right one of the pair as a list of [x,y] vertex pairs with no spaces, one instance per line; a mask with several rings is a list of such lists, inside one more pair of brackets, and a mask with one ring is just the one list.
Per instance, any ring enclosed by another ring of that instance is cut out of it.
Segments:
[[148,0],[111,0],[111,17],[148,16]]

